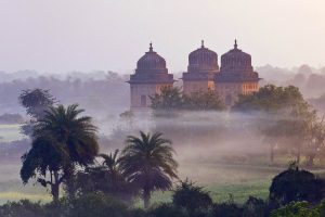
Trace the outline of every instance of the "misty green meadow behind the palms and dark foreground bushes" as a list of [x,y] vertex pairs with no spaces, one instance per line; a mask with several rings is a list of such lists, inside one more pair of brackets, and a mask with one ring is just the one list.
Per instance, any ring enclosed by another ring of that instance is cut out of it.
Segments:
[[[0,125],[0,141],[23,138],[18,125]],[[235,148],[232,150],[236,150]],[[180,179],[188,178],[210,193],[214,202],[225,202],[232,197],[236,203],[244,203],[248,196],[266,199],[272,178],[284,170],[290,156],[277,157],[276,166],[269,166],[268,154],[255,157],[240,153],[222,153],[214,146],[177,148],[180,163]],[[245,162],[242,162],[245,159]],[[48,202],[51,196],[35,180],[26,187],[20,180],[21,159],[11,162],[0,159],[0,203],[29,199]],[[317,169],[315,173],[323,174]],[[177,184],[177,182],[176,182]],[[170,202],[172,192],[155,192],[153,203]],[[232,196],[230,196],[232,195]],[[136,203],[141,205],[139,201]]]

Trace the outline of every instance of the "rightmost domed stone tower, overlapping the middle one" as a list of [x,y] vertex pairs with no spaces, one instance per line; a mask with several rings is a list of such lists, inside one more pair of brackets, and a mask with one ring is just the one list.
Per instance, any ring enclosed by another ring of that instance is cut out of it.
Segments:
[[253,72],[251,56],[238,49],[235,40],[234,49],[221,56],[220,73],[216,76],[216,91],[225,105],[233,105],[238,94],[250,94],[259,90],[259,75]]

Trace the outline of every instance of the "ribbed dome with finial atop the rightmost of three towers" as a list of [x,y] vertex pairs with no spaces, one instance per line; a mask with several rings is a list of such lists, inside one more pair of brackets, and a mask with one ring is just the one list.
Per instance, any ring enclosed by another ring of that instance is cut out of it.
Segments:
[[220,72],[252,72],[251,56],[237,48],[236,40],[234,49],[221,56]]

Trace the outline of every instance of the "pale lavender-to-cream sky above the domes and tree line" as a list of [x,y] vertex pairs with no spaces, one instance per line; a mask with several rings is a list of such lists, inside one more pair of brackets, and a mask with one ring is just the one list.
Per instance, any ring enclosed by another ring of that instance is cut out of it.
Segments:
[[[255,66],[325,65],[325,0],[0,0],[0,69],[126,73],[148,50],[171,73],[205,40]],[[219,59],[220,62],[220,59]]]

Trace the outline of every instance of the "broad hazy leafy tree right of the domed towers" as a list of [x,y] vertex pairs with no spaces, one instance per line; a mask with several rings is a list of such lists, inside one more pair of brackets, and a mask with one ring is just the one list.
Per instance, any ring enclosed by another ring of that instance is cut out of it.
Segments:
[[288,144],[294,145],[283,145],[292,149],[296,152],[297,162],[300,162],[301,152],[310,142],[310,129],[316,119],[316,112],[303,99],[297,87],[266,85],[258,92],[239,95],[233,110],[262,113],[261,123],[263,124],[260,128],[266,137],[265,141],[270,144],[272,163],[275,144],[288,140],[290,140]]

